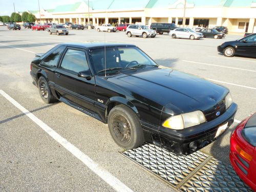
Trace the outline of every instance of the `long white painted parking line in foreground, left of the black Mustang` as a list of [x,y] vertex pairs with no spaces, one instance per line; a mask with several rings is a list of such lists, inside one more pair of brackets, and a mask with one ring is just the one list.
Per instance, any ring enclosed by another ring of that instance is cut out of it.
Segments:
[[38,126],[41,127],[46,133],[48,133],[54,140],[60,143],[63,147],[65,147],[71,154],[73,154],[77,159],[82,161],[86,166],[88,166],[95,174],[97,174],[102,180],[112,186],[116,191],[130,191],[132,189],[123,184],[119,179],[111,175],[107,170],[100,167],[97,163],[95,163],[90,157],[86,154],[82,153],[76,146],[71,144],[65,138],[61,137],[58,133],[56,133],[51,127],[38,119],[35,115],[25,109],[22,105],[20,105],[17,101],[15,101],[12,97],[10,97],[3,90],[0,90],[0,94],[2,94],[8,101],[10,101],[16,108],[22,111],[25,115],[27,115],[32,121],[34,121]]

